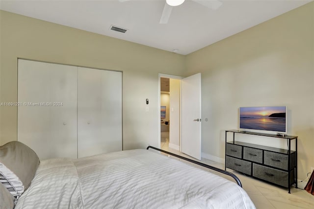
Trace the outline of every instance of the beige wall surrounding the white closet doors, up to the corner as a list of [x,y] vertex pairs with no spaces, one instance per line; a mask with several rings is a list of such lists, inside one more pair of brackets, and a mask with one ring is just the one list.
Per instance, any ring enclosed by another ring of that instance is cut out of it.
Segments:
[[[123,71],[124,149],[160,143],[158,73],[181,76],[183,55],[5,11],[0,48],[0,102],[17,102],[18,57]],[[17,140],[17,107],[0,110],[0,144]]]

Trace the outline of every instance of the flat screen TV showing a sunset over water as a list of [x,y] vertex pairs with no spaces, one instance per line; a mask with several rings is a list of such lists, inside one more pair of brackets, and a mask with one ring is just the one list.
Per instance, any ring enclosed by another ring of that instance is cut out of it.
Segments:
[[240,131],[287,134],[287,106],[239,108]]

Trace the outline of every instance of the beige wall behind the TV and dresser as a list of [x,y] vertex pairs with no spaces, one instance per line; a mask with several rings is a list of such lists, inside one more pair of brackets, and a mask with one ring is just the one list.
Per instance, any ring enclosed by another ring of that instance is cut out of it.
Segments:
[[314,2],[187,55],[185,76],[199,72],[202,152],[224,158],[224,131],[238,129],[240,106],[287,105],[305,179],[314,167]]

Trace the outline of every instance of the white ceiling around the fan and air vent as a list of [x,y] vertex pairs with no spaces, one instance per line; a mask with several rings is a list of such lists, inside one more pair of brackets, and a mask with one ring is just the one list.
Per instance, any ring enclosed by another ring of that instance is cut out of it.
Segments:
[[[217,10],[185,0],[159,24],[165,0],[0,0],[0,9],[188,54],[312,0],[221,0]],[[129,29],[125,34],[111,25]]]

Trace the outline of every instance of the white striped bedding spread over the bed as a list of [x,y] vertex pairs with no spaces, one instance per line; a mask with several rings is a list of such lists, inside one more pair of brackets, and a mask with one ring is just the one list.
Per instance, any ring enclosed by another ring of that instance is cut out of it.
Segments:
[[15,209],[255,209],[236,183],[149,150],[43,160]]

